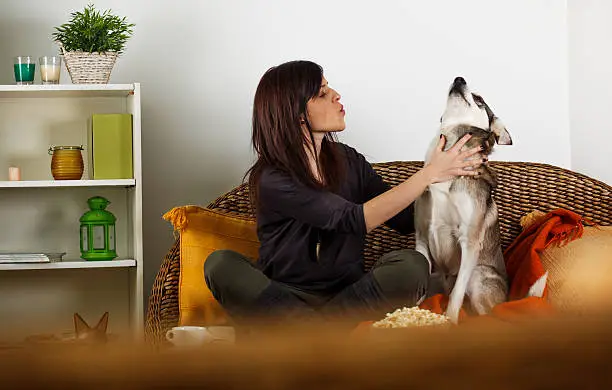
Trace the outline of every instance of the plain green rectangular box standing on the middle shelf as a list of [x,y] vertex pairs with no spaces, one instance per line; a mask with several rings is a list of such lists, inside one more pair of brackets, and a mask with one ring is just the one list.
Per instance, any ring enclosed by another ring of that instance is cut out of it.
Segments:
[[132,179],[132,115],[94,114],[91,121],[90,177]]

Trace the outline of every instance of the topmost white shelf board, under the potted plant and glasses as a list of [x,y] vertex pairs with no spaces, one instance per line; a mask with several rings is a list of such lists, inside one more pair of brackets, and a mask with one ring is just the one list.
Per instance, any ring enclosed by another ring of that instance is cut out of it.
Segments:
[[0,98],[16,97],[124,97],[134,84],[0,85]]

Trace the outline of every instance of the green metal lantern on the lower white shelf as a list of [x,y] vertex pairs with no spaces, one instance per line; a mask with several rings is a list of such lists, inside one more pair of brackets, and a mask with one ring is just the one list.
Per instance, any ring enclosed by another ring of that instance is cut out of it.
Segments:
[[81,258],[85,260],[112,260],[115,251],[115,221],[117,218],[106,211],[110,202],[94,196],[87,200],[90,210],[79,219],[81,222]]

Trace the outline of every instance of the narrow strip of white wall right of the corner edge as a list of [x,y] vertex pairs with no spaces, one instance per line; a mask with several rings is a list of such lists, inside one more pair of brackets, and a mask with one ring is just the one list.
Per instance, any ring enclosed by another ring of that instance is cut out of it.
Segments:
[[568,1],[572,168],[612,183],[612,3]]

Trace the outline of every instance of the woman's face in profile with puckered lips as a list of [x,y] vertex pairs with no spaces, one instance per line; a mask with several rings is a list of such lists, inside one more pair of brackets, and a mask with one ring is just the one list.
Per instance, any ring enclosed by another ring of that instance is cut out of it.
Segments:
[[306,103],[306,110],[313,132],[342,131],[346,127],[340,94],[329,87],[325,77],[317,96]]

